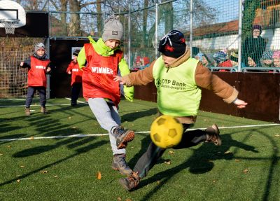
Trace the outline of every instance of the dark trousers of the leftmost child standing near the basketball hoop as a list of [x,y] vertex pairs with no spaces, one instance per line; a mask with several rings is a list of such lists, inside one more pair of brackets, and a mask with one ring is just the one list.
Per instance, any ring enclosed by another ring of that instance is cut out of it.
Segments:
[[28,87],[27,88],[27,99],[25,102],[25,106],[27,108],[30,107],[31,103],[32,103],[32,99],[34,97],[34,94],[36,92],[36,90],[38,90],[39,96],[40,96],[40,105],[45,107],[45,103],[46,103],[46,90],[45,87]]

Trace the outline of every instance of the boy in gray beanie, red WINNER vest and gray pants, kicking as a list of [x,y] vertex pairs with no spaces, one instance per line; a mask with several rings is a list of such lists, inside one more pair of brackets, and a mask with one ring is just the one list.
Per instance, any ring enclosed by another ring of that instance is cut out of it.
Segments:
[[[113,81],[117,74],[130,74],[119,47],[122,37],[123,25],[118,16],[111,16],[104,23],[102,38],[94,41],[89,36],[90,43],[86,43],[80,50],[78,64],[83,69],[83,97],[99,125],[109,132],[113,151],[112,168],[121,174],[130,175],[132,169],[125,161],[125,147],[127,142],[134,139],[134,132],[120,126],[120,85]],[[124,86],[123,91],[125,98],[132,101],[134,88]]]

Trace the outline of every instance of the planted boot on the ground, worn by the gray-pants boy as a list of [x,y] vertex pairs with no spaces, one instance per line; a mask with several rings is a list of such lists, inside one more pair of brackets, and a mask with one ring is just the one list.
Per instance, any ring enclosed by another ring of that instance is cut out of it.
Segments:
[[120,174],[132,174],[132,169],[130,169],[125,161],[125,154],[113,155],[112,168],[118,170]]

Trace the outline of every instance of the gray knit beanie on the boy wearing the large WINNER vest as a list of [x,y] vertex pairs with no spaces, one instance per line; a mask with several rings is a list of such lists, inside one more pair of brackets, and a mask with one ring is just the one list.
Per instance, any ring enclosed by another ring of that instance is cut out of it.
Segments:
[[123,38],[123,25],[122,23],[120,23],[119,16],[111,15],[104,22],[102,39],[104,42],[106,42],[112,39],[121,41],[122,38]]

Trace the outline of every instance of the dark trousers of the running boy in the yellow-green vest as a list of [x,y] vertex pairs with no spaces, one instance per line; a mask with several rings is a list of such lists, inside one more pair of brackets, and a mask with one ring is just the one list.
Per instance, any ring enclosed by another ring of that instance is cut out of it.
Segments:
[[[183,133],[182,140],[178,145],[173,147],[174,149],[188,148],[206,141],[207,136],[204,130],[186,131],[186,129],[190,127],[188,124],[183,124],[183,127],[185,132]],[[151,142],[147,151],[141,155],[137,161],[137,164],[133,169],[134,172],[138,172],[138,175],[141,178],[147,176],[149,170],[152,169],[156,162],[161,158],[162,154],[165,153],[165,150],[165,148],[160,148]]]

